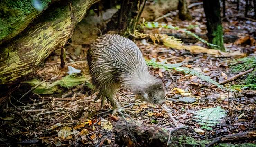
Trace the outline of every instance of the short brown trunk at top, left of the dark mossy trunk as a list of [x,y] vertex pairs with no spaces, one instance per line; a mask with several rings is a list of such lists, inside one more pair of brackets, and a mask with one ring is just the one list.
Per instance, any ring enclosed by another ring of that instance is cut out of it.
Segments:
[[188,4],[186,0],[179,0],[178,10],[179,18],[181,20],[192,20],[192,17],[189,14]]

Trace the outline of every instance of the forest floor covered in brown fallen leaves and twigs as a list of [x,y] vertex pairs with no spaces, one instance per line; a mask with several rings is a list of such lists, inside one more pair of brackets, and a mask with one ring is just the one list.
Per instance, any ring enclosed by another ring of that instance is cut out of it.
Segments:
[[[228,52],[242,50],[249,56],[255,56],[255,44],[248,44],[248,36],[255,38],[256,22],[246,18],[236,17],[236,5],[227,4],[227,16],[223,21],[225,35],[238,36],[240,43],[234,44],[235,40],[225,43]],[[191,21],[181,21],[177,18],[177,12],[159,20],[171,23],[173,26],[186,28],[196,34],[205,34],[205,18],[202,5],[190,9],[194,17]],[[234,17],[235,16],[235,17]],[[147,33],[175,33],[167,29],[149,29]],[[247,37],[247,39],[245,38]],[[244,40],[243,40],[244,39]],[[192,39],[193,40],[193,39]],[[186,42],[187,45],[192,43]],[[188,67],[202,72],[213,80],[220,82],[238,73],[231,72],[229,64],[232,57],[214,57],[204,53],[192,54],[186,50],[176,50],[150,40],[136,40],[136,44],[143,52],[146,59],[156,58],[156,61],[166,63],[182,63],[182,67]],[[206,47],[202,42],[193,44]],[[31,78],[46,80],[46,82],[60,80],[68,75],[68,66],[81,69],[81,73],[88,74],[86,65],[86,50],[83,45],[80,54],[76,55],[75,45],[66,48],[67,61],[65,68],[60,67],[60,55],[53,53],[47,60],[36,69]],[[187,126],[187,133],[196,140],[204,140],[205,134],[201,132],[200,125],[196,123],[193,112],[204,108],[221,106],[227,116],[208,131],[208,139],[214,139],[223,135],[238,134],[237,140],[226,140],[227,143],[254,143],[255,135],[247,136],[247,139],[239,140],[239,134],[255,133],[256,131],[256,91],[241,90],[235,104],[234,91],[211,88],[197,76],[191,76],[177,71],[150,68],[152,74],[163,80],[166,88],[167,106],[180,127]],[[244,77],[232,81],[231,84],[240,84]],[[24,90],[26,89],[26,90]],[[60,94],[35,94],[30,93],[19,101],[21,95],[30,88],[20,84],[19,89],[10,95],[10,101],[3,109],[0,122],[0,141],[6,144],[2,146],[117,146],[115,141],[115,122],[109,117],[111,106],[106,104],[104,110],[100,109],[100,101],[94,102],[97,95],[84,85],[73,87]],[[20,92],[22,91],[22,92]],[[120,114],[118,118],[133,119],[138,124],[152,124],[170,131],[174,125],[168,115],[157,105],[148,104],[138,100],[133,93],[121,89],[116,95],[120,105],[134,109],[134,114]],[[183,92],[182,92],[183,91]],[[15,99],[13,99],[15,98]],[[11,100],[12,99],[12,100]],[[232,113],[229,111],[234,104]],[[184,145],[185,146],[185,145]],[[232,145],[230,145],[232,146]]]

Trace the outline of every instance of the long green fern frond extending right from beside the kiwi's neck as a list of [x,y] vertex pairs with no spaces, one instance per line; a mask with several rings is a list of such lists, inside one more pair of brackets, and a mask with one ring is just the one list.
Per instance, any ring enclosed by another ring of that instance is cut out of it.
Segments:
[[217,87],[221,87],[220,84],[218,84],[216,81],[212,80],[210,77],[203,75],[203,73],[200,73],[198,71],[186,68],[186,67],[180,67],[182,64],[177,63],[177,64],[165,64],[165,61],[163,62],[156,62],[156,59],[153,58],[150,61],[146,61],[148,66],[152,66],[153,68],[164,68],[165,70],[176,70],[180,72],[184,72],[185,74],[190,74],[193,76],[197,76],[203,81],[206,81],[208,83],[212,83],[216,85]]

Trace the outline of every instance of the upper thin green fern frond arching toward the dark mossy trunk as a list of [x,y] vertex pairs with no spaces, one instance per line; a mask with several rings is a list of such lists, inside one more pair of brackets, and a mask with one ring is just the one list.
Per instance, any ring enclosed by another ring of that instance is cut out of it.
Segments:
[[207,44],[208,46],[214,46],[214,47],[219,47],[218,45],[215,45],[215,44],[211,44],[211,43],[208,43],[206,40],[200,38],[198,35],[192,33],[191,31],[188,31],[187,29],[180,29],[179,27],[173,27],[172,25],[167,25],[165,23],[161,23],[159,24],[158,22],[144,22],[142,24],[142,27],[146,27],[146,28],[167,28],[167,29],[173,29],[173,30],[180,30],[184,33],[186,33],[187,35],[191,35],[193,37],[195,37],[196,39],[200,40],[201,42]]

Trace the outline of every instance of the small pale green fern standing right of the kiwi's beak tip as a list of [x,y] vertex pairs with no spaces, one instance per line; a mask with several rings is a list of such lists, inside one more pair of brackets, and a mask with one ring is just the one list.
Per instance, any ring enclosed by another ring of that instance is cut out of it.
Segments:
[[200,128],[205,130],[212,130],[211,126],[217,125],[223,117],[225,117],[225,111],[220,107],[206,108],[194,112],[195,121],[201,125]]

